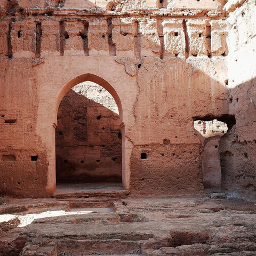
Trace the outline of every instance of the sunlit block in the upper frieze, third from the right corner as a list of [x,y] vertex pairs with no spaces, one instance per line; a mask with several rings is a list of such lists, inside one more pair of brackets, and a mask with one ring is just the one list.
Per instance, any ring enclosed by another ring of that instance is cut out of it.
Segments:
[[185,56],[185,34],[182,27],[182,21],[164,20],[164,55],[166,57],[184,57]]

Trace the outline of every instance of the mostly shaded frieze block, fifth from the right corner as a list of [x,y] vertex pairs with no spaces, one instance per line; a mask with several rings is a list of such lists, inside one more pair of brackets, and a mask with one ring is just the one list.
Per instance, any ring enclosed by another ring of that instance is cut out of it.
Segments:
[[113,19],[113,43],[116,46],[116,56],[134,57],[134,47],[137,40],[136,23],[131,19]]

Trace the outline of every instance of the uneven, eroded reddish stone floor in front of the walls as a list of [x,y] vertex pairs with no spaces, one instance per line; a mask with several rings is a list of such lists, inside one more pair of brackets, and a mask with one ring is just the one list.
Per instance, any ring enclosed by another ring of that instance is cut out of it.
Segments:
[[214,195],[2,198],[0,255],[256,255],[256,205]]

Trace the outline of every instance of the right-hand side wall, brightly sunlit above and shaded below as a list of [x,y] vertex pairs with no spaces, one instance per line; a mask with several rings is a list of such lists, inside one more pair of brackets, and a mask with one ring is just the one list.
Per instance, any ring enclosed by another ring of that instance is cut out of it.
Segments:
[[256,198],[256,6],[228,1],[230,11],[228,95],[236,124],[220,140],[222,188],[234,196]]

